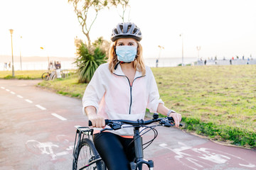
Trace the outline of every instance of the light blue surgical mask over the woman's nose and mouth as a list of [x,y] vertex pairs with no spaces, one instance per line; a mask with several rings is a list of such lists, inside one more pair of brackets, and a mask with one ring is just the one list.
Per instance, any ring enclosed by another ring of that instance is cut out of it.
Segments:
[[137,47],[134,46],[117,46],[117,60],[120,62],[133,62],[137,55]]

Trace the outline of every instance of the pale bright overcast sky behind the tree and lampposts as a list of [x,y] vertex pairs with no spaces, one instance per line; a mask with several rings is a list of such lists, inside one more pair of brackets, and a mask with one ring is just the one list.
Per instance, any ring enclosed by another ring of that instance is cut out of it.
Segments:
[[[142,30],[145,58],[256,58],[255,0],[130,0],[125,21]],[[90,38],[110,40],[121,10],[100,11]],[[128,17],[129,16],[129,17]],[[87,40],[68,0],[0,1],[0,55],[75,57],[74,39]],[[22,38],[21,38],[22,37]],[[43,50],[40,48],[43,47]],[[199,51],[196,47],[201,47]]]

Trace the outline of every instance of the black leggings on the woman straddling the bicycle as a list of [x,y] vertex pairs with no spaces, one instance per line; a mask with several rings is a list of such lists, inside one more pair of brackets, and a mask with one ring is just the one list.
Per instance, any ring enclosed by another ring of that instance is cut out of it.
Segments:
[[130,170],[129,162],[135,158],[132,140],[111,132],[97,133],[93,137],[97,152],[109,170]]

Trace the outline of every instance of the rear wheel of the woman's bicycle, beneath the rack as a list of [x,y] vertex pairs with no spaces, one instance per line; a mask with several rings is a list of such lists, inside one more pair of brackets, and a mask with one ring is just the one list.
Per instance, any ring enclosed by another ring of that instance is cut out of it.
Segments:
[[[76,156],[73,159],[73,170],[77,170],[82,168],[83,166],[92,162],[96,157],[100,157],[92,140],[84,138],[78,146],[77,149],[78,153],[75,154]],[[105,164],[103,161],[96,162],[88,166],[85,169],[92,169],[92,170],[105,170]]]

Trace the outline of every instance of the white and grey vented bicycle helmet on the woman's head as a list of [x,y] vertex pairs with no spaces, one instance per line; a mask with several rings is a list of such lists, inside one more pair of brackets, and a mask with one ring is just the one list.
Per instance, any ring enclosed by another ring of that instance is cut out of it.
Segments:
[[118,23],[112,30],[111,40],[114,42],[119,38],[134,38],[142,40],[142,32],[134,23]]

